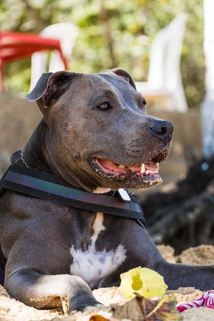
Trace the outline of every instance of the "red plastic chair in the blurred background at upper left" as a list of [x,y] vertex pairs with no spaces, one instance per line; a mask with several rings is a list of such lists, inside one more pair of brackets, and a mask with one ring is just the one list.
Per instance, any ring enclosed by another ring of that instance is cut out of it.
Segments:
[[65,70],[68,70],[68,64],[58,39],[22,32],[0,32],[0,92],[4,91],[4,65],[42,50],[58,50]]

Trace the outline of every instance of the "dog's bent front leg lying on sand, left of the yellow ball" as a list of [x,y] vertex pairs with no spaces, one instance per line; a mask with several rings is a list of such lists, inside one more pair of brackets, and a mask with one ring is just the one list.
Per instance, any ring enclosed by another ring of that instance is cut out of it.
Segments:
[[12,297],[36,309],[63,306],[65,312],[70,313],[100,305],[90,287],[75,275],[42,275],[32,269],[22,269],[6,277],[4,286]]

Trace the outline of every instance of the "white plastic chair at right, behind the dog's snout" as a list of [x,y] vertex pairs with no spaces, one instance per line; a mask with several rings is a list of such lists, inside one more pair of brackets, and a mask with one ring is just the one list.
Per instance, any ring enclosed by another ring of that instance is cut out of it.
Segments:
[[180,73],[181,50],[187,15],[177,15],[155,36],[150,51],[148,82],[136,82],[148,103],[164,99],[166,110],[188,109]]

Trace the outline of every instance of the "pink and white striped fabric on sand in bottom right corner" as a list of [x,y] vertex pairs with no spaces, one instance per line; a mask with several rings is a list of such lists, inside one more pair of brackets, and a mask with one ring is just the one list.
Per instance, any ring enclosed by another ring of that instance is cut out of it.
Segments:
[[190,308],[199,308],[199,307],[206,307],[214,309],[214,293],[213,290],[209,290],[202,294],[198,299],[187,303],[182,304],[181,306],[178,306],[177,309],[179,312],[183,312],[184,310],[190,309]]

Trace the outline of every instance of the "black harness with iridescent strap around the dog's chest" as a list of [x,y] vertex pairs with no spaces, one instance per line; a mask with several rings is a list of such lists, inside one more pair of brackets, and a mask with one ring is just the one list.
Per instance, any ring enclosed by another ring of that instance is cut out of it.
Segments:
[[[0,180],[0,195],[7,189],[69,207],[132,218],[143,228],[146,225],[137,197],[125,189],[106,194],[89,193],[49,173],[17,165],[11,165]],[[0,246],[0,284],[5,263]]]

